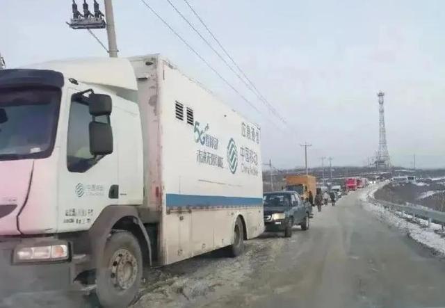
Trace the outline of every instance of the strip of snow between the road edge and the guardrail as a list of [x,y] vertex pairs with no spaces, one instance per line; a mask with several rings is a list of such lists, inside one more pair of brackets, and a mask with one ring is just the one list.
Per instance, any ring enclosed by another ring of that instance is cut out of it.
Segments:
[[425,245],[442,257],[445,257],[445,238],[440,234],[442,233],[442,225],[432,223],[430,227],[428,227],[427,220],[415,218],[415,222],[413,222],[412,216],[410,215],[400,212],[394,213],[385,209],[383,206],[373,204],[369,201],[369,196],[373,197],[375,191],[381,186],[382,185],[375,185],[362,192],[360,200],[362,201],[363,208],[379,216],[380,219],[389,223],[389,225],[402,229],[410,238],[414,239],[414,241]]

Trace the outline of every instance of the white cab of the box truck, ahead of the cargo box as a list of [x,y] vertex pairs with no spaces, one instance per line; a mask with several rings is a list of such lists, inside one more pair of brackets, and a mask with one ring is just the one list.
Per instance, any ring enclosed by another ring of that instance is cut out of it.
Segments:
[[[111,230],[133,225],[140,238],[127,238],[149,246],[136,206],[129,206],[143,204],[136,92],[133,69],[122,59],[0,71],[1,298],[86,290],[95,269],[104,298],[99,276],[109,270],[102,262]],[[129,259],[130,268],[141,269],[134,255]],[[140,273],[133,273],[103,302],[127,302],[129,295],[117,295],[138,287]]]

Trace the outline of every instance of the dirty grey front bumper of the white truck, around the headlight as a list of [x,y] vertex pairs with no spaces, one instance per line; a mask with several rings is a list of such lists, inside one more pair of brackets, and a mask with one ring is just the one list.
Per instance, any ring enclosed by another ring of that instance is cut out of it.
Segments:
[[[42,238],[26,238],[26,243]],[[81,285],[74,283],[79,273],[79,262],[40,261],[15,263],[14,253],[22,238],[0,238],[0,307],[15,295],[42,293],[46,291],[81,291]]]

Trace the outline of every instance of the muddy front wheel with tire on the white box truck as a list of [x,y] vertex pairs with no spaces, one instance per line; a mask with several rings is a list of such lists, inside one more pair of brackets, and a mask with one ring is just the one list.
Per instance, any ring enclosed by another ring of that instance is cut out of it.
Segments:
[[143,274],[138,240],[127,231],[111,234],[96,275],[96,296],[102,307],[127,307],[136,298]]

